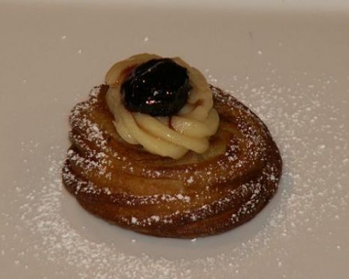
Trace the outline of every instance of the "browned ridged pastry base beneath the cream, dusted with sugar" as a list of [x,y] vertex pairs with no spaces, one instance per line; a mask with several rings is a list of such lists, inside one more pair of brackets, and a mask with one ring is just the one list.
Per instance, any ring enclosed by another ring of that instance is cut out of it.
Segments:
[[70,114],[66,188],[96,216],[154,236],[207,236],[251,220],[276,193],[279,149],[258,116],[211,89],[221,122],[209,150],[174,160],[121,140],[107,86],[96,87]]

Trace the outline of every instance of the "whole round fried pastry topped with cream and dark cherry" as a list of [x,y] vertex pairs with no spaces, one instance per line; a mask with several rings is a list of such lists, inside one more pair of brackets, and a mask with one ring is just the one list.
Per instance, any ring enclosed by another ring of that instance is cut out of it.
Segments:
[[87,211],[135,232],[225,232],[262,210],[281,178],[267,126],[179,58],[116,63],[69,120],[66,188]]

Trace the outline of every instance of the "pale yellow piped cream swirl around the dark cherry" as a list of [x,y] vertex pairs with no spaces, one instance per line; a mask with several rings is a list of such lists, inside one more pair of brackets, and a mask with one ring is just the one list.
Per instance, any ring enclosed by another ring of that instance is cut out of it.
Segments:
[[107,105],[114,115],[114,126],[119,136],[129,144],[141,144],[150,153],[181,158],[189,150],[204,153],[209,148],[209,137],[218,129],[219,116],[213,108],[212,92],[205,77],[179,57],[172,58],[187,68],[192,89],[188,102],[174,116],[150,116],[129,112],[121,101],[121,84],[127,70],[150,59],[155,54],[138,54],[115,63],[105,76]]

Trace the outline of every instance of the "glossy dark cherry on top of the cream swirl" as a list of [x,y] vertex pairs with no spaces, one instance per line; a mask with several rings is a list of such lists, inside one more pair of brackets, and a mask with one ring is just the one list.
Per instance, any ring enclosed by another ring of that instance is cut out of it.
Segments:
[[121,84],[125,107],[151,116],[176,114],[186,104],[190,90],[186,68],[168,58],[142,63]]

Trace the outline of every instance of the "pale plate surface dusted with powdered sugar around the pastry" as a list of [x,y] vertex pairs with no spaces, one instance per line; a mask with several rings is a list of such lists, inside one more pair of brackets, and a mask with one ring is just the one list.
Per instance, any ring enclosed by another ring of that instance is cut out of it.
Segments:
[[[280,3],[0,3],[1,277],[348,278],[349,8]],[[158,239],[62,187],[70,109],[140,52],[181,56],[271,130],[283,179],[251,222]]]

